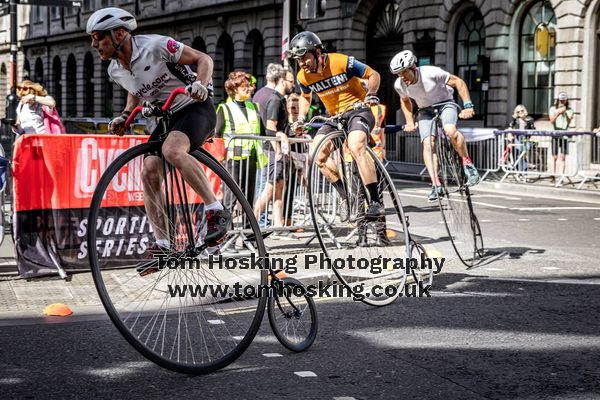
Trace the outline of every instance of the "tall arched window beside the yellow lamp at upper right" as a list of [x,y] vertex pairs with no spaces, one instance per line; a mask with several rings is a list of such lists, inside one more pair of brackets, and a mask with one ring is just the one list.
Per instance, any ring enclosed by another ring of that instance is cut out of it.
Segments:
[[556,16],[549,1],[535,3],[520,32],[520,96],[534,117],[547,116],[554,90]]

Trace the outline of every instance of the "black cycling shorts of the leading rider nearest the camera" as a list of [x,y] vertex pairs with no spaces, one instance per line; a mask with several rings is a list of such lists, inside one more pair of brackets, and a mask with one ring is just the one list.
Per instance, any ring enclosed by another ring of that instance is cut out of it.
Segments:
[[[217,113],[211,100],[189,104],[171,116],[168,132],[180,131],[190,139],[190,152],[200,148],[213,133]],[[162,123],[150,135],[149,142],[158,142],[163,134]]]

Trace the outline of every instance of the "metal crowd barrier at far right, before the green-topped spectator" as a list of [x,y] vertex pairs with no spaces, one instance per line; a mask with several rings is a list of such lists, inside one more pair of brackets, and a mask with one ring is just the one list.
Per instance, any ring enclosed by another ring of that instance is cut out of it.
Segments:
[[[495,134],[500,138],[502,157],[500,168],[504,182],[509,176],[515,181],[525,183],[541,178],[553,178],[555,187],[568,181],[577,189],[591,182],[597,188],[600,180],[600,137],[594,132],[578,131],[542,131],[542,130],[499,130]],[[553,138],[563,141],[553,145]],[[566,149],[564,165],[553,153],[562,153]],[[553,147],[555,147],[553,149]],[[591,151],[586,152],[587,148]],[[558,150],[558,151],[557,151]]]

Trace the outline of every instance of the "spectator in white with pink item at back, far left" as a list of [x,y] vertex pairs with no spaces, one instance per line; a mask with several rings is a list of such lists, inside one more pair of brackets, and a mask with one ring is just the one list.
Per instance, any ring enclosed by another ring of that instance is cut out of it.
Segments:
[[17,96],[20,97],[15,123],[18,133],[64,133],[56,102],[41,84],[23,81],[17,85]]

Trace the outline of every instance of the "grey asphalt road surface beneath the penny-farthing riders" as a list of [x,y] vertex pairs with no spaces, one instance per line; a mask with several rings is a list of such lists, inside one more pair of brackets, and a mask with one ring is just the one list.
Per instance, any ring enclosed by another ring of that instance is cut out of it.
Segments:
[[431,298],[319,299],[309,351],[286,351],[265,318],[236,363],[200,377],[146,361],[102,314],[5,316],[0,397],[600,399],[600,204],[476,192],[487,252],[466,270],[428,188],[402,186],[411,232],[448,259]]

